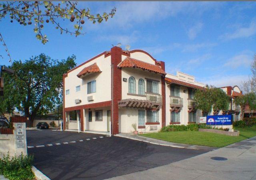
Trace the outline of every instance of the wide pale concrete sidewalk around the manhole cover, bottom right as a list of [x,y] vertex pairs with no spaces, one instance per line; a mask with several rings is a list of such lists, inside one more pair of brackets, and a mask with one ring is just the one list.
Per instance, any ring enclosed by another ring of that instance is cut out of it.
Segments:
[[[212,160],[220,156],[228,160]],[[256,180],[256,137],[192,158],[112,180]]]

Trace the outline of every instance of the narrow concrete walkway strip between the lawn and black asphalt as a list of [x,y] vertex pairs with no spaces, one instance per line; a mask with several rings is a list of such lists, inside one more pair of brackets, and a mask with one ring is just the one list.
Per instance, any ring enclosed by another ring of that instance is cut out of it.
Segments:
[[148,142],[151,144],[158,144],[161,146],[171,146],[174,148],[188,148],[188,149],[198,149],[198,150],[208,150],[208,151],[218,149],[218,148],[209,147],[209,146],[197,146],[197,145],[191,145],[191,144],[180,144],[180,143],[175,143],[175,142],[167,142],[167,141],[163,141],[163,140],[148,138],[148,137],[139,136],[139,135],[130,134],[130,133],[120,133],[120,134],[116,134],[115,136],[122,137],[122,138],[128,138],[128,139],[132,139],[132,140],[138,140],[138,141],[142,141],[142,142]]

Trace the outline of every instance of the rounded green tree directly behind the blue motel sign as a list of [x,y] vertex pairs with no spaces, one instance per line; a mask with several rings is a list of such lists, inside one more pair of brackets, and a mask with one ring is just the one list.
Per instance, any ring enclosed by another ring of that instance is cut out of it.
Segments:
[[227,110],[230,103],[230,98],[223,90],[208,85],[203,90],[196,90],[194,100],[196,108],[203,112],[211,112],[212,109]]

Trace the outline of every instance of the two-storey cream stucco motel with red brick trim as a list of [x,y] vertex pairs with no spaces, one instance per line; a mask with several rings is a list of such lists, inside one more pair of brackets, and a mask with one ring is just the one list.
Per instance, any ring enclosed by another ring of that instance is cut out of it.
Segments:
[[114,46],[69,70],[63,83],[64,130],[132,133],[136,124],[138,132],[157,132],[217,113],[239,120],[239,107],[234,106],[234,98],[242,94],[238,86],[222,87],[230,96],[230,110],[202,112],[193,98],[204,84],[182,72],[167,74],[164,62],[143,50]]

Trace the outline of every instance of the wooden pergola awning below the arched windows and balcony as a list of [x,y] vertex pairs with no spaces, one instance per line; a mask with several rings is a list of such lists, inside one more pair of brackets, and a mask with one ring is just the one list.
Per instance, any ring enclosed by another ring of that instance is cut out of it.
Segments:
[[152,102],[149,100],[138,100],[138,99],[122,99],[118,102],[118,107],[128,108],[145,108],[159,110],[161,107],[160,102]]

